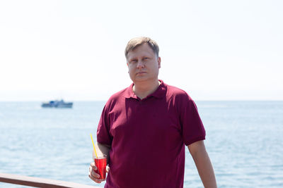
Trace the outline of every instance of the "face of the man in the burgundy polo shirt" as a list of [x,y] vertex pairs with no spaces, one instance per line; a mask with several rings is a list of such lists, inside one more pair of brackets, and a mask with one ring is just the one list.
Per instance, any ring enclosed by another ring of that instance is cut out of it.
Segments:
[[141,44],[127,54],[129,77],[133,82],[156,81],[161,68],[161,58],[157,57],[149,44]]

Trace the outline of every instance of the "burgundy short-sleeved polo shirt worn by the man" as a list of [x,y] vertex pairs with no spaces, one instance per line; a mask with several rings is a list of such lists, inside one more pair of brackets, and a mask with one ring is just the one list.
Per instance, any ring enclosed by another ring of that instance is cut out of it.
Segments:
[[185,145],[205,139],[205,130],[190,96],[159,81],[145,99],[132,84],[105,104],[97,130],[97,141],[111,146],[105,187],[183,187]]

